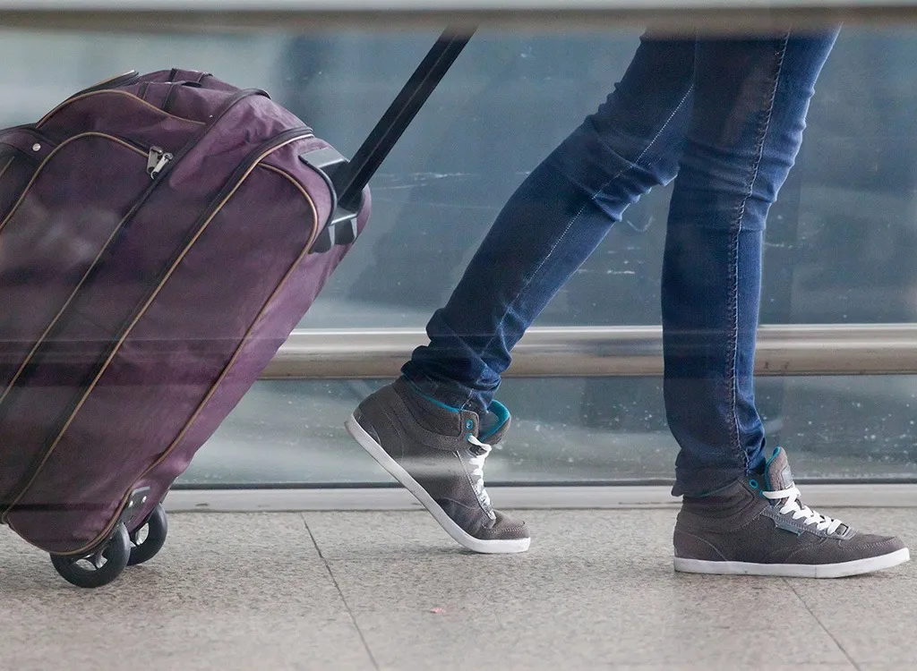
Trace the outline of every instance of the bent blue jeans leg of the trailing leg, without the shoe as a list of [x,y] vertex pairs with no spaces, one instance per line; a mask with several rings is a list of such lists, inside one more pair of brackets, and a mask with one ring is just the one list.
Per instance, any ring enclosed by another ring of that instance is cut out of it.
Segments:
[[403,375],[481,412],[510,351],[621,219],[678,168],[691,106],[693,40],[644,38],[621,82],[503,207]]

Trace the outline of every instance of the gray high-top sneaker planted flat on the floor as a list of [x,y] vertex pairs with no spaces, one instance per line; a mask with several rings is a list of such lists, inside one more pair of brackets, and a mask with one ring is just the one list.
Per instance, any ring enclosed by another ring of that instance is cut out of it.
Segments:
[[684,501],[674,542],[675,570],[687,573],[843,578],[911,558],[897,538],[860,534],[803,505],[779,447],[760,478]]

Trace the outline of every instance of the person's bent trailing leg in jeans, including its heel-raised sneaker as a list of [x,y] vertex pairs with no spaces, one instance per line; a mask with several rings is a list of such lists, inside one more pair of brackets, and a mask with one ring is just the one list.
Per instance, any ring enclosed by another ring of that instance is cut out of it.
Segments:
[[484,458],[510,424],[492,401],[510,350],[624,208],[678,167],[693,41],[646,39],[608,101],[503,208],[403,378],[359,404],[348,431],[458,543],[523,552],[524,523],[492,509]]

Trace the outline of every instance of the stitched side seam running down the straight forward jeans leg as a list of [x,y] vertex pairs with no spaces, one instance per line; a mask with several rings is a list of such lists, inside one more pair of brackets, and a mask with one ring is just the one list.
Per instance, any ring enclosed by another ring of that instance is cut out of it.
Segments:
[[774,70],[774,83],[773,88],[770,92],[770,100],[768,101],[768,110],[764,118],[761,121],[760,128],[758,129],[758,139],[757,147],[755,148],[755,164],[752,168],[751,179],[748,181],[747,193],[745,198],[742,199],[742,203],[739,205],[737,216],[735,219],[735,226],[732,227],[731,235],[735,237],[735,244],[731,247],[732,259],[729,264],[729,272],[731,275],[732,288],[730,290],[730,310],[732,312],[732,334],[730,337],[729,343],[729,361],[727,366],[730,370],[729,373],[729,404],[730,412],[733,414],[733,429],[735,431],[735,450],[740,453],[745,460],[745,473],[748,474],[750,463],[748,461],[748,451],[743,449],[741,444],[741,435],[742,432],[739,428],[739,417],[737,411],[738,407],[738,374],[736,367],[738,365],[738,331],[739,331],[739,272],[738,272],[738,259],[739,259],[739,234],[742,232],[742,220],[745,218],[746,213],[746,204],[748,199],[751,198],[752,194],[755,192],[755,183],[761,166],[761,158],[764,154],[764,145],[767,142],[768,131],[770,130],[770,120],[774,112],[774,103],[777,99],[777,89],[779,87],[780,74],[783,71],[783,58],[787,52],[787,45],[790,41],[790,34],[788,33],[784,36],[783,41],[780,43],[779,49],[777,51],[777,64]]

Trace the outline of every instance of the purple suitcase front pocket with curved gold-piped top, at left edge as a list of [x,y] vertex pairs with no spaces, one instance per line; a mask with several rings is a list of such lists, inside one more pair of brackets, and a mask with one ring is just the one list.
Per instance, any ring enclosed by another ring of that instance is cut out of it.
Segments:
[[[27,162],[15,156],[10,168]],[[30,353],[149,188],[148,163],[144,148],[87,133],[61,143],[16,190],[0,219],[0,416]]]

